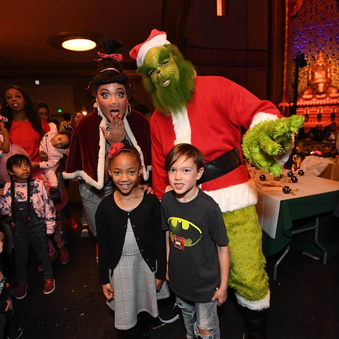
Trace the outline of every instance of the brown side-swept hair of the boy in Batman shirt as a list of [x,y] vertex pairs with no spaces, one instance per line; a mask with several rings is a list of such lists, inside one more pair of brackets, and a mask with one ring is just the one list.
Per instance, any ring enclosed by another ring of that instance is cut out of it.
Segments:
[[168,152],[165,159],[165,170],[168,172],[169,169],[175,164],[181,157],[185,160],[192,158],[194,163],[197,165],[197,169],[204,167],[205,158],[200,149],[194,147],[191,144],[177,144],[171,151]]

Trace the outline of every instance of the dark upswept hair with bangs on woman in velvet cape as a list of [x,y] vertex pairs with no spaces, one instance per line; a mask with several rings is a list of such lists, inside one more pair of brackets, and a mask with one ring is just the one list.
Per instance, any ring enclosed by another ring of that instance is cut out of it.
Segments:
[[[121,54],[122,52],[126,52],[122,46],[123,45],[120,41],[114,40],[112,38],[106,38],[101,43],[101,47],[107,55]],[[126,91],[128,91],[128,89],[131,90],[132,94],[129,95],[129,97],[134,96],[133,87],[129,84],[127,75],[122,73],[121,62],[111,57],[101,58],[98,62],[98,74],[88,84],[85,94],[90,98],[95,98],[99,86],[111,83],[124,85]]]

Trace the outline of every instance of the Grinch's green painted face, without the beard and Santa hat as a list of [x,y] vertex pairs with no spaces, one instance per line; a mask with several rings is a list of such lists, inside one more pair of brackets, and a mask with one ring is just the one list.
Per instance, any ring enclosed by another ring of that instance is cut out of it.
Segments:
[[155,88],[167,87],[171,81],[179,80],[179,68],[171,52],[164,47],[151,48],[146,54],[144,66]]

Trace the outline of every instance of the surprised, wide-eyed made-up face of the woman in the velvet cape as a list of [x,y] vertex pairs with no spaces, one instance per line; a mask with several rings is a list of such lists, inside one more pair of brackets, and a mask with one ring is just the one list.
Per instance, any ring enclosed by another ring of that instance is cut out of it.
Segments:
[[127,93],[124,85],[111,83],[97,88],[97,102],[107,120],[113,115],[123,118],[127,109]]

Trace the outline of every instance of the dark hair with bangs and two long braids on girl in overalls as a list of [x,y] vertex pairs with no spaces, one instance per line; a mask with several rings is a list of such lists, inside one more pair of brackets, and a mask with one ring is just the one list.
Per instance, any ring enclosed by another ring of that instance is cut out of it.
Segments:
[[[15,154],[12,155],[7,159],[6,162],[6,168],[7,171],[13,172],[14,166],[20,166],[22,162],[27,162],[28,164],[31,164],[31,160],[29,160],[25,155],[23,154]],[[11,218],[11,224],[15,226],[16,223],[16,215],[15,215],[15,178],[14,175],[11,175],[11,210],[12,210],[12,218]],[[29,176],[27,179],[27,212],[28,212],[28,218],[27,221],[23,224],[23,227],[26,228],[29,220],[31,219],[31,209],[30,209],[30,200],[31,196],[33,195],[33,179]]]

